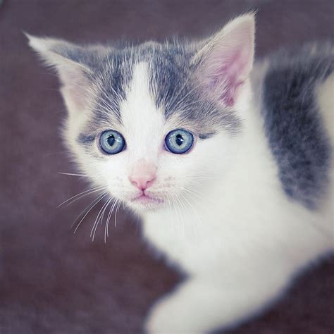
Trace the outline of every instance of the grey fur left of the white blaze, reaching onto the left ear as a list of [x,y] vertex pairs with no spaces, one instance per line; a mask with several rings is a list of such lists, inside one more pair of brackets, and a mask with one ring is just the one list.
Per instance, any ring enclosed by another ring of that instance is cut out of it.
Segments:
[[125,90],[132,77],[132,49],[102,45],[79,47],[60,42],[53,51],[84,66],[82,75],[88,84],[83,88],[92,109],[90,128],[94,128],[94,123],[121,123],[119,105],[125,99]]

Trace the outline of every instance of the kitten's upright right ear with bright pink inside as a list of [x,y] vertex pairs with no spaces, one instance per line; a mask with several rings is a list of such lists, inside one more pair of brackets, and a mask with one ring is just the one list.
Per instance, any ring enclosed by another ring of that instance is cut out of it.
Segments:
[[235,104],[239,88],[252,70],[254,30],[254,14],[235,18],[209,38],[192,58],[204,89],[225,106]]

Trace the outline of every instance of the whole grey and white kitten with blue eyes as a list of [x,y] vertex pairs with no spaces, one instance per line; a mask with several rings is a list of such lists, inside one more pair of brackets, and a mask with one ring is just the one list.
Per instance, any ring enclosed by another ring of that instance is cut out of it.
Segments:
[[253,68],[252,14],[200,42],[28,37],[58,71],[81,170],[187,276],[147,333],[236,326],[333,252],[333,46]]

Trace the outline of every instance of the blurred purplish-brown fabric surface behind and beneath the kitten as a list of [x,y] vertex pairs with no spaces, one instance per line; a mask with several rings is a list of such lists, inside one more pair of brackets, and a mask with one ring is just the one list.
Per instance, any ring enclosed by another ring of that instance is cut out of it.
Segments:
[[[203,37],[257,9],[256,54],[333,39],[332,0],[5,0],[0,6],[0,333],[141,333],[149,306],[179,280],[120,211],[116,227],[89,237],[98,209],[57,209],[87,189],[59,128],[58,80],[27,47],[23,31],[73,42]],[[273,264],[274,266],[275,264]],[[270,268],[268,268],[270,270]],[[265,274],[265,273],[264,273]],[[334,261],[297,279],[276,307],[230,333],[333,333]]]

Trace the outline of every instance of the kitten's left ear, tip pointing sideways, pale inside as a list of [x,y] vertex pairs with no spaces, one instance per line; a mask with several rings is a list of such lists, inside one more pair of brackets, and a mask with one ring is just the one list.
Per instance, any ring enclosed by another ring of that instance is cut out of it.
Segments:
[[56,68],[63,85],[61,92],[68,111],[82,110],[87,105],[87,87],[92,70],[87,66],[87,51],[61,39],[28,35],[29,45],[37,51],[47,66]]

